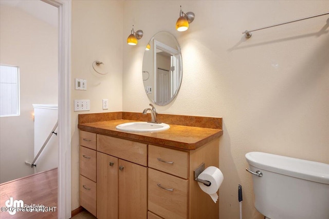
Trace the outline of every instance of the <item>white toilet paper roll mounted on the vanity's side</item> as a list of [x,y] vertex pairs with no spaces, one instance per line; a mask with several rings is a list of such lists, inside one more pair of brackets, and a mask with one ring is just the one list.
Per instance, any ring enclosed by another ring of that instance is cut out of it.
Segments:
[[210,186],[206,186],[205,184],[198,182],[199,187],[204,192],[209,194],[214,203],[216,203],[218,200],[218,195],[216,192],[218,191],[224,180],[222,171],[217,167],[210,166],[207,167],[204,171],[202,171],[202,173],[199,174],[198,178],[201,180],[209,181],[211,183]]

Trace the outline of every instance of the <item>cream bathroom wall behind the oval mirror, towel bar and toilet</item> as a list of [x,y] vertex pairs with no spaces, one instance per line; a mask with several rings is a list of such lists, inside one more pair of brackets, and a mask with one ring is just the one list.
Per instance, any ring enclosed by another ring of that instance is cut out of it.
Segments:
[[[220,218],[263,218],[253,207],[245,153],[263,151],[329,164],[328,16],[254,32],[329,11],[327,1],[124,1],[123,111],[150,103],[142,83],[142,59],[159,31],[174,34],[184,73],[178,96],[159,113],[223,117],[220,141]],[[179,6],[193,11],[186,32],[177,32]],[[132,25],[144,36],[125,43]]]

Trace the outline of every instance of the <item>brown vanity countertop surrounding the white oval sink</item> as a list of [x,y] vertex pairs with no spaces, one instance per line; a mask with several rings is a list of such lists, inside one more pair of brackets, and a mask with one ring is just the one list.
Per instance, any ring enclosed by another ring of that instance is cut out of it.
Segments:
[[[95,113],[97,114],[97,113]],[[85,118],[85,114],[81,114]],[[79,115],[80,116],[80,115]],[[95,116],[93,114],[93,116]],[[165,118],[170,115],[163,116]],[[113,117],[113,116],[111,116]],[[121,116],[115,116],[116,118]],[[127,117],[127,116],[123,116]],[[161,116],[160,116],[161,117]],[[192,116],[193,117],[193,116]],[[203,118],[203,117],[198,117]],[[205,117],[210,118],[210,117]],[[222,118],[218,118],[222,119]],[[104,118],[103,118],[104,120]],[[81,121],[87,122],[88,120],[82,119]],[[80,123],[78,128],[83,131],[94,132],[97,134],[111,135],[114,137],[125,138],[127,140],[133,140],[138,142],[144,142],[148,144],[170,146],[186,150],[195,150],[206,143],[220,137],[223,134],[222,129],[204,128],[204,127],[192,127],[184,125],[174,125],[165,122],[170,125],[170,129],[159,132],[125,132],[116,129],[116,126],[123,123],[139,122],[140,120],[127,120],[127,119],[115,119],[108,121]],[[148,121],[148,120],[144,120]],[[89,122],[89,121],[88,121]],[[221,123],[222,124],[222,123]],[[196,124],[197,125],[197,124]]]

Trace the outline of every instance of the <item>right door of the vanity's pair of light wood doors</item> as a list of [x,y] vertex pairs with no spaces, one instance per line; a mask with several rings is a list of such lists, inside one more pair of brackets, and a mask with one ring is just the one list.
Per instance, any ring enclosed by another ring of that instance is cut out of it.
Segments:
[[147,168],[119,160],[119,218],[147,218]]

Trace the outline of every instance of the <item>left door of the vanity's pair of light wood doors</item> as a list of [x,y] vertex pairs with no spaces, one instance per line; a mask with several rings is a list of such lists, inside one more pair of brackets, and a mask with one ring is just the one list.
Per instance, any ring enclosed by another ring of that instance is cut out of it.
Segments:
[[97,152],[97,218],[118,218],[119,159]]

